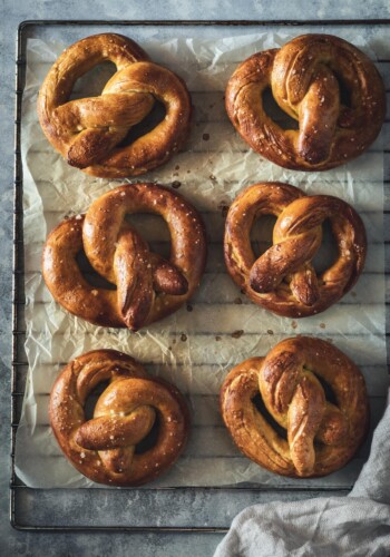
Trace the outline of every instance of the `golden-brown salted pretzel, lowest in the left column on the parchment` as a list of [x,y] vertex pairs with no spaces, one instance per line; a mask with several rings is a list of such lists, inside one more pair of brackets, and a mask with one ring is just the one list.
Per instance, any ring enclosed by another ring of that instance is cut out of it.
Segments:
[[[88,395],[107,381],[94,418],[87,420]],[[115,350],[95,350],[71,361],[52,388],[49,416],[74,467],[113,486],[140,486],[167,470],[184,448],[189,423],[174,385],[149,378],[133,358]],[[139,443],[155,424],[156,441],[142,452]]]

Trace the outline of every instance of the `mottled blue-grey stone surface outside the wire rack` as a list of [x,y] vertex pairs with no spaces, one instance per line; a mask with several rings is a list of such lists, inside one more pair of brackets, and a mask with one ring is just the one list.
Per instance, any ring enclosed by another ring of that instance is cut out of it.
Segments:
[[[91,10],[92,8],[92,10]],[[217,534],[36,534],[9,525],[10,477],[10,361],[12,268],[12,173],[14,45],[17,29],[28,19],[373,19],[390,18],[389,0],[2,0],[0,7],[0,555],[212,555],[222,538]],[[389,240],[389,238],[387,238]],[[387,289],[389,292],[389,287]],[[389,322],[389,321],[388,321]],[[191,512],[191,509],[188,509]]]

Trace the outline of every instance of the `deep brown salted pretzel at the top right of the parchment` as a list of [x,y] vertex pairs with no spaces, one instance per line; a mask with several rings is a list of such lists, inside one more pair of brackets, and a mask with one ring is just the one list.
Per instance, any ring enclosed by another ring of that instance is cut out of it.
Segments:
[[[264,108],[273,98],[299,129],[283,129]],[[234,127],[263,157],[293,170],[326,170],[359,156],[378,136],[386,113],[382,79],[354,46],[330,35],[303,35],[257,52],[227,84]]]

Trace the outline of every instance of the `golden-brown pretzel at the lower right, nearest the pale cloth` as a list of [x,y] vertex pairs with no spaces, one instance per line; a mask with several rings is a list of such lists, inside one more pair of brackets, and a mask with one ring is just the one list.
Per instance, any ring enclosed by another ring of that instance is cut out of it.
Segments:
[[[334,401],[326,401],[321,381]],[[286,430],[286,439],[257,410]],[[344,466],[362,443],[369,407],[364,379],[355,364],[329,342],[286,339],[265,358],[236,365],[221,390],[224,422],[240,450],[269,470],[315,477]]]

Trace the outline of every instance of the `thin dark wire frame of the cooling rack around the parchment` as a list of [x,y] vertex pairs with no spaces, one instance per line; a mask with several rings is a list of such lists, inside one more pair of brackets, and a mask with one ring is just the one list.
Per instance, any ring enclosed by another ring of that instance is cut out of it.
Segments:
[[[164,525],[145,525],[145,526],[94,526],[92,524],[86,524],[81,526],[67,525],[61,524],[50,525],[50,524],[39,524],[35,525],[31,522],[23,522],[18,519],[17,510],[19,504],[22,505],[27,502],[29,497],[30,488],[25,486],[20,480],[18,480],[14,470],[14,447],[16,447],[16,431],[19,424],[20,411],[21,411],[21,402],[23,398],[25,391],[25,373],[22,369],[26,368],[26,360],[23,359],[25,349],[25,331],[23,331],[23,306],[25,306],[25,293],[23,293],[23,280],[25,280],[25,268],[23,268],[23,211],[22,211],[22,192],[23,192],[23,179],[22,179],[22,164],[21,164],[21,150],[20,150],[20,133],[21,133],[21,101],[23,94],[23,82],[25,82],[25,71],[26,71],[26,58],[25,58],[25,49],[26,49],[26,31],[33,26],[253,26],[257,27],[293,27],[293,26],[323,26],[325,28],[331,28],[332,26],[359,26],[359,25],[382,25],[389,26],[390,20],[370,20],[370,21],[359,21],[359,20],[349,20],[349,21],[27,21],[21,23],[18,32],[18,42],[17,42],[17,61],[16,61],[16,135],[14,135],[14,225],[13,225],[13,293],[12,293],[12,405],[11,405],[11,481],[10,481],[10,520],[13,527],[18,529],[28,529],[28,530],[117,530],[117,531],[204,531],[204,532],[217,532],[217,531],[226,531],[227,526],[209,526],[204,524],[203,526],[164,526]],[[379,59],[380,63],[390,63],[390,59]],[[390,71],[390,68],[389,70]],[[389,92],[389,89],[387,89]],[[386,118],[384,126],[390,124],[390,118]],[[390,179],[388,177],[389,173],[389,164],[388,155],[390,153],[389,149],[384,149],[384,186],[390,184]],[[384,214],[390,214],[390,211],[386,209]],[[389,242],[386,241],[386,244]],[[388,270],[386,270],[388,275]],[[387,303],[387,313],[388,313],[388,303]],[[388,336],[388,333],[387,333]],[[294,490],[296,495],[300,497],[313,497],[316,495],[324,495],[324,491],[329,495],[345,495],[349,489],[338,489],[334,488],[323,488],[323,489],[313,489],[313,488],[300,488],[299,490]],[[72,496],[78,491],[86,492],[87,490],[67,490],[74,491]],[[104,489],[88,490],[91,492],[92,498],[101,498],[104,494]],[[135,494],[134,488],[121,489],[121,492]],[[224,487],[214,487],[214,488],[143,488],[142,491],[145,494],[149,491],[150,496],[158,496],[158,498],[166,498],[168,501],[175,497],[175,492],[181,491],[185,497],[192,499],[194,496],[196,497],[197,492],[207,491],[213,496],[215,494],[216,498],[221,494],[224,496],[234,496],[237,494],[245,495],[245,501],[247,500],[247,494],[251,492],[256,496],[259,491],[264,491],[264,488],[256,488],[253,486],[250,487],[237,487],[237,488],[224,488]],[[276,488],[271,487],[266,488],[266,491],[272,491],[277,494],[277,498],[281,499],[285,495],[285,488]],[[113,492],[113,490],[109,490]],[[95,494],[95,495],[94,495]],[[255,501],[255,499],[254,499]]]

